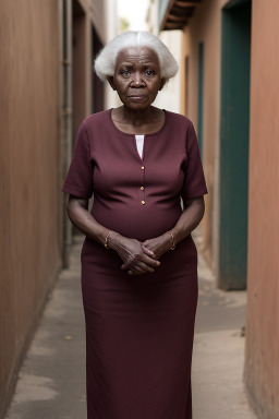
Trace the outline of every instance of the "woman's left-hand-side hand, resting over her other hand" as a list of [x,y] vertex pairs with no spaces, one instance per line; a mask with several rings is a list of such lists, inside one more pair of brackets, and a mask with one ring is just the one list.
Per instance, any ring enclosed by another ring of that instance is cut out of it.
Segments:
[[156,260],[151,250],[144,251],[141,241],[129,239],[116,231],[111,231],[108,239],[109,248],[113,249],[124,262],[121,270],[128,270],[129,275],[143,275],[154,272],[160,262]]

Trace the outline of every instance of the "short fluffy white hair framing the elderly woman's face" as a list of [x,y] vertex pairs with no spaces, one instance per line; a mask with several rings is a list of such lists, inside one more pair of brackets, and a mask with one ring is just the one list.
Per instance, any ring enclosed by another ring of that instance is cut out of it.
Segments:
[[158,56],[161,79],[168,81],[177,74],[179,70],[177,61],[169,48],[157,36],[149,32],[128,31],[118,35],[98,53],[94,67],[100,80],[105,82],[108,76],[114,75],[117,57],[128,47],[150,48]]

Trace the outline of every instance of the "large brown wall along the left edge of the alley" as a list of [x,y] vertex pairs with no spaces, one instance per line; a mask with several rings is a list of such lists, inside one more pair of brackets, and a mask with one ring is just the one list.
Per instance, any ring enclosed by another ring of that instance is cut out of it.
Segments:
[[1,1],[0,15],[1,417],[61,265],[61,235],[58,1]]

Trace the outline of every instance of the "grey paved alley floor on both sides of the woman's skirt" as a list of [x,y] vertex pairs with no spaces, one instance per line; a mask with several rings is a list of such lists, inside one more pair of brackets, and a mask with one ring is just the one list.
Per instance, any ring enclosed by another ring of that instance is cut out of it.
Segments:
[[[81,239],[61,273],[22,370],[7,419],[85,419],[85,337]],[[255,419],[242,372],[245,292],[223,292],[202,256],[193,357],[194,419]],[[113,418],[111,418],[113,419]],[[133,418],[131,418],[133,419]],[[172,418],[170,418],[172,419]],[[174,418],[173,418],[174,419]]]

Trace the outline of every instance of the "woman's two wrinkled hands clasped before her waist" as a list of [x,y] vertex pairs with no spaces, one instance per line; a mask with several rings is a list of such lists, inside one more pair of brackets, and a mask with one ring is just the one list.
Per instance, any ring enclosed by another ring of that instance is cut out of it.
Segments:
[[159,259],[161,255],[172,246],[172,238],[167,232],[144,242],[120,235],[117,236],[119,237],[111,237],[112,243],[110,247],[122,259],[121,270],[128,271],[128,275],[143,275],[154,272],[160,265]]

